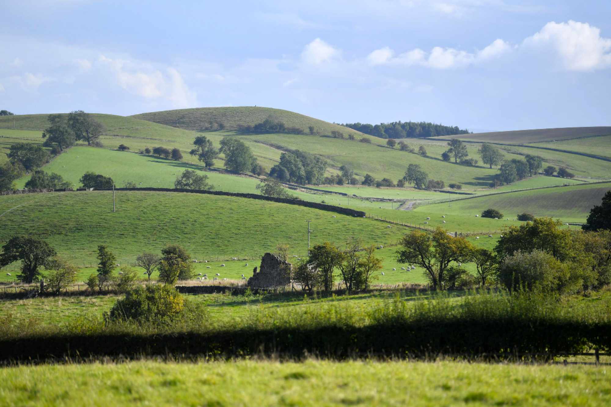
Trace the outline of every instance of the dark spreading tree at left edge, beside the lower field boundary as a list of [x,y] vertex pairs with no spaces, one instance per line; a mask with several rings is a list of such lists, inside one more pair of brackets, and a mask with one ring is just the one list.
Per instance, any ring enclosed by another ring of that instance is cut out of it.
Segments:
[[44,240],[31,237],[15,236],[2,246],[0,267],[21,260],[21,274],[17,279],[24,283],[38,280],[41,266],[47,266],[51,257],[57,252]]

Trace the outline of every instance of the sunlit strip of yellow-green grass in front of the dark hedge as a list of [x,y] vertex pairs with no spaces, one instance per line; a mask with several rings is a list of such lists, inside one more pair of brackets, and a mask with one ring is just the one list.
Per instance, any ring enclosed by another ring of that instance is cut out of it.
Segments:
[[609,369],[591,366],[134,361],[4,368],[0,398],[66,406],[582,406],[609,405],[609,380]]

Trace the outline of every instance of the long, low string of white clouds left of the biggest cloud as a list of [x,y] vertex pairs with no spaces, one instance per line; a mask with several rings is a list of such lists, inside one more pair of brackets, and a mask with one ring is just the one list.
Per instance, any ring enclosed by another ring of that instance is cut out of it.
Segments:
[[418,65],[426,68],[449,69],[478,64],[485,60],[500,57],[509,51],[511,51],[511,46],[503,40],[496,40],[483,50],[475,53],[436,46],[429,53],[420,50],[420,48],[415,48],[393,57],[394,51],[384,47],[370,53],[367,60],[371,65],[389,64],[407,67]]

